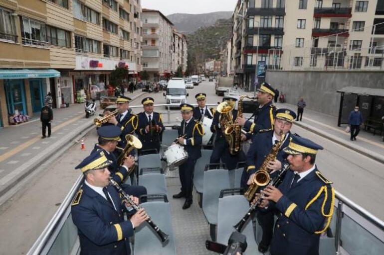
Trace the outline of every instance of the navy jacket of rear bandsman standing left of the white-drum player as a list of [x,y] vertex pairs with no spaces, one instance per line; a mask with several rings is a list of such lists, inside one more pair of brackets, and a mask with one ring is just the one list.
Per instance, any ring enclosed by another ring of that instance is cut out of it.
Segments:
[[157,149],[159,152],[160,136],[164,131],[164,125],[161,114],[158,112],[153,113],[153,120],[155,120],[156,125],[159,125],[161,127],[161,131],[160,133],[154,132],[152,135],[151,132],[145,132],[145,127],[149,125],[148,118],[145,112],[140,112],[137,117],[139,119],[139,126],[135,132],[138,135],[139,140],[143,144],[142,150]]

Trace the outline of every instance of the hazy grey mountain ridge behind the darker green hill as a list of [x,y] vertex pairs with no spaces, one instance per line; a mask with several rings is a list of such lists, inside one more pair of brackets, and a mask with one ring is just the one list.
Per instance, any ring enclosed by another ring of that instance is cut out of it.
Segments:
[[214,25],[218,19],[229,19],[232,11],[216,11],[203,14],[174,13],[167,17],[175,24],[179,32],[190,34],[200,27]]

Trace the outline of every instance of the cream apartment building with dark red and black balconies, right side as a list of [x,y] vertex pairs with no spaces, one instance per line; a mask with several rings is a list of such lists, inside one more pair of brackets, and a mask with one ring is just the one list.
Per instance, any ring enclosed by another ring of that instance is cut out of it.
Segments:
[[232,67],[251,87],[272,70],[382,70],[384,0],[238,0]]

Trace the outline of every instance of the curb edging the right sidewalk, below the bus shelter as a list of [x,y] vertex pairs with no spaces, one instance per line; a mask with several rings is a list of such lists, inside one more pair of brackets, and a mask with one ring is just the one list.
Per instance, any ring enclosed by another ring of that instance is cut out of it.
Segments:
[[298,127],[304,128],[308,131],[311,131],[311,132],[313,132],[319,136],[322,136],[328,140],[331,140],[332,142],[335,142],[339,145],[342,145],[348,149],[351,149],[357,153],[360,153],[360,154],[362,154],[362,155],[364,155],[370,159],[373,159],[375,161],[378,161],[378,162],[384,164],[384,157],[378,153],[369,151],[369,150],[367,150],[361,146],[358,146],[358,145],[350,145],[350,144],[346,143],[346,141],[344,141],[343,139],[341,139],[337,136],[331,135],[331,134],[326,134],[323,131],[321,131],[320,129],[314,128],[310,125],[306,125],[306,124],[299,123],[299,122],[295,122],[295,125]]

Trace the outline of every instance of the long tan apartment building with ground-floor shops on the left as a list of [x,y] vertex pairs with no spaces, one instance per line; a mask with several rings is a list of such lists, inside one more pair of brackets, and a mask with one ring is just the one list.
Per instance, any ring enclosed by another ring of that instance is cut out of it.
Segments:
[[116,66],[141,71],[140,0],[1,0],[0,126],[108,85]]

